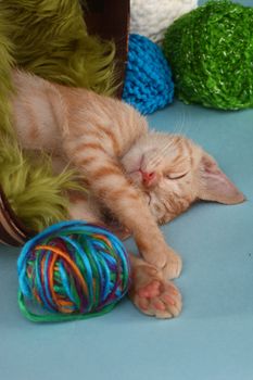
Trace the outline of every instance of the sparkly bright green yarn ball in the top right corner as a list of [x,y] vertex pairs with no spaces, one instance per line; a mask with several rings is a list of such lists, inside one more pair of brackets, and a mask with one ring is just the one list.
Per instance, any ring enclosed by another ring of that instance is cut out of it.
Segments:
[[253,8],[208,1],[168,27],[163,47],[185,103],[253,106]]

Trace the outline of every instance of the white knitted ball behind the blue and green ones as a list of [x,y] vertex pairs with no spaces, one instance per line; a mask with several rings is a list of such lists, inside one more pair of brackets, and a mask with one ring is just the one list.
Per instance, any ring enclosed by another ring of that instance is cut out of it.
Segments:
[[167,27],[197,4],[198,0],[131,0],[130,33],[161,42]]

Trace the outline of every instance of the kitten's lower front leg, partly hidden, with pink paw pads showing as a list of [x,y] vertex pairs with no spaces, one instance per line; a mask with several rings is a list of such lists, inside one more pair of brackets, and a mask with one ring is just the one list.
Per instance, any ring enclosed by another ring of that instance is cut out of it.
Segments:
[[[103,225],[102,217],[92,202],[84,194],[69,192],[69,216],[73,219]],[[110,226],[106,228],[111,229]],[[111,229],[112,230],[112,229]],[[118,236],[117,231],[112,230]],[[121,236],[119,236],[121,238]],[[166,281],[163,271],[129,253],[131,266],[131,288],[129,299],[143,314],[156,318],[172,318],[181,311],[181,295],[177,288]]]

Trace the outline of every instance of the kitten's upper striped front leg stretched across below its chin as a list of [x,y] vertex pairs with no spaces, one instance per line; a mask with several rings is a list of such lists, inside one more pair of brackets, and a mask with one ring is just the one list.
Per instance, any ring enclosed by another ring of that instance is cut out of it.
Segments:
[[159,268],[170,267],[170,277],[179,275],[181,261],[166,244],[148,205],[139,191],[125,177],[118,161],[102,142],[67,139],[65,152],[89,181],[90,191],[134,235],[143,258]]

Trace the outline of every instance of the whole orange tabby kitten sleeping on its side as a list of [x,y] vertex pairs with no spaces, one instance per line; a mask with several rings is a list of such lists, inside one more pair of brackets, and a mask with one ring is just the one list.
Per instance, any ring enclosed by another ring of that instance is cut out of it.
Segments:
[[172,220],[197,200],[226,204],[244,197],[216,162],[192,141],[149,131],[131,106],[85,89],[67,88],[14,72],[14,122],[23,148],[71,163],[89,195],[69,194],[72,218],[97,224],[109,216],[132,233],[142,256],[130,255],[131,300],[160,318],[179,314],[180,257],[157,224]]

